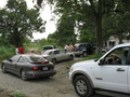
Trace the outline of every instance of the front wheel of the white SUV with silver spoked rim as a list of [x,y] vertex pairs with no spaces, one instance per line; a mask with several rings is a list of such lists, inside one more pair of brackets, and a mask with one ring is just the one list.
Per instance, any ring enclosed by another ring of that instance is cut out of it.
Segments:
[[83,75],[79,75],[75,79],[74,86],[80,97],[90,97],[93,94],[93,88],[89,80]]

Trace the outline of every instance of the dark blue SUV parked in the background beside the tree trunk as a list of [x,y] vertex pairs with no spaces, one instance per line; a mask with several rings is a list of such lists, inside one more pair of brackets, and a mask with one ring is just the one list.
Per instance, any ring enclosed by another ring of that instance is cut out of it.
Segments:
[[88,56],[93,54],[93,44],[90,43],[78,43],[74,45],[74,54],[76,56]]

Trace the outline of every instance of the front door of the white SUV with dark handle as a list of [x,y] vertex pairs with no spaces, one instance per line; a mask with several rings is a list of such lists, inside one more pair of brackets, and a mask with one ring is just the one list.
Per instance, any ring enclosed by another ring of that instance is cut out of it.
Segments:
[[129,66],[118,59],[114,60],[112,53],[104,58],[104,65],[98,64],[94,67],[95,87],[128,93]]

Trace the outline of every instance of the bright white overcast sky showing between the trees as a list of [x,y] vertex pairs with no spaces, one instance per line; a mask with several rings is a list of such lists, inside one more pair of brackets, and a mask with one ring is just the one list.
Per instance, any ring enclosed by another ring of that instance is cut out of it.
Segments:
[[[1,0],[0,8],[3,8],[6,4],[6,1],[8,0]],[[27,6],[29,9],[31,9],[35,4],[32,3],[32,0],[25,0],[25,1],[27,2]],[[47,20],[46,32],[43,33],[34,32],[32,33],[34,40],[42,39],[42,38],[47,39],[50,33],[53,33],[56,30],[55,27],[56,20],[50,20],[52,18],[52,13],[49,5],[46,5],[44,9],[41,9],[40,16],[43,20]]]

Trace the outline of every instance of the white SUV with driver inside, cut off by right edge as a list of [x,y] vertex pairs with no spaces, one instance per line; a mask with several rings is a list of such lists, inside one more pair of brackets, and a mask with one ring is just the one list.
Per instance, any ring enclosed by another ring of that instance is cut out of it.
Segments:
[[99,59],[74,64],[69,80],[80,97],[90,97],[94,92],[130,97],[130,43],[113,47]]

